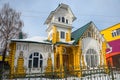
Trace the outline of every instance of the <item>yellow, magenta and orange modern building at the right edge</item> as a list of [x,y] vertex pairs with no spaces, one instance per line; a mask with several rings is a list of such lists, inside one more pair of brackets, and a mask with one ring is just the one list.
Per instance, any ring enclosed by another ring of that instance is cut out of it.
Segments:
[[106,54],[108,64],[113,67],[120,67],[120,23],[102,30],[101,34],[110,46]]

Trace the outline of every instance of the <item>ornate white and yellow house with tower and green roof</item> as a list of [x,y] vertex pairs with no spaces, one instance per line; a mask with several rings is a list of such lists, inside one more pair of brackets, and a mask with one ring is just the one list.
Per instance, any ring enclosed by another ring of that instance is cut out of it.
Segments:
[[104,69],[107,48],[105,39],[93,22],[72,32],[75,19],[70,7],[61,3],[45,21],[47,38],[11,40],[10,73],[62,72],[66,69],[70,71],[68,74],[81,76],[81,73],[74,71]]

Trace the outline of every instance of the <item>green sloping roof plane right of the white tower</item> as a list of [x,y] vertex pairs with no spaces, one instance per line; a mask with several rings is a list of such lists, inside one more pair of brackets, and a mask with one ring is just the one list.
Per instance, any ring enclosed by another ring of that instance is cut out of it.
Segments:
[[89,23],[87,23],[83,27],[80,27],[79,29],[77,29],[74,32],[72,32],[71,37],[72,37],[72,39],[75,40],[73,44],[77,44],[77,42],[79,41],[79,39],[82,36],[82,34],[88,29],[88,27],[90,26],[91,23],[93,23],[93,22],[90,21]]

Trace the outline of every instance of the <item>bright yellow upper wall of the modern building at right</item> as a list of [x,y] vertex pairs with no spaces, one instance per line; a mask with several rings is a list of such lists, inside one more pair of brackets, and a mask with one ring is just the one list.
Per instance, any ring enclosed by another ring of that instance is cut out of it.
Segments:
[[120,36],[115,36],[115,37],[112,37],[112,31],[113,30],[116,30],[120,28],[120,23],[119,24],[116,24],[116,25],[113,25],[107,29],[104,29],[101,31],[101,34],[104,34],[104,38],[106,39],[106,41],[112,41],[112,40],[116,40],[116,39],[120,39]]

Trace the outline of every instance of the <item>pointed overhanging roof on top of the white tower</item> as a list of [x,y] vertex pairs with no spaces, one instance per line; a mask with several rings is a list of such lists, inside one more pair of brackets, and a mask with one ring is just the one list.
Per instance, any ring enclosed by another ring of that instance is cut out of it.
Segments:
[[76,19],[76,17],[75,17],[75,15],[73,14],[71,8],[70,8],[68,5],[61,3],[61,4],[58,5],[58,7],[57,7],[54,11],[52,11],[52,12],[50,13],[50,15],[48,16],[48,18],[46,19],[46,21],[45,21],[44,24],[48,24],[48,23],[51,21],[51,19],[52,19],[52,17],[54,16],[54,14],[55,14],[56,12],[58,12],[58,10],[59,10],[60,8],[64,8],[64,9],[68,10],[68,11],[73,15],[73,17],[72,17],[73,21]]

